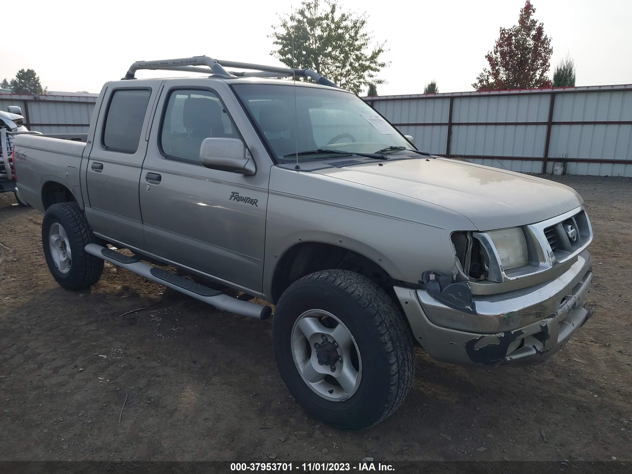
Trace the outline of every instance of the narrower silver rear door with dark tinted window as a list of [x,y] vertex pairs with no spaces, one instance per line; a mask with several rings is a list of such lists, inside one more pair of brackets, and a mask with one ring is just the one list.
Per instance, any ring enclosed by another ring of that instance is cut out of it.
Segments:
[[99,112],[86,170],[90,206],[85,212],[95,233],[143,248],[138,181],[161,81],[130,84],[114,86]]

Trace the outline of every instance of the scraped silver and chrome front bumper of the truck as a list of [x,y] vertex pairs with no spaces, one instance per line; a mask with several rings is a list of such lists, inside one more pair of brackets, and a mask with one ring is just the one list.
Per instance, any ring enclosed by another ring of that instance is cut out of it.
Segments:
[[395,291],[415,339],[435,360],[460,365],[543,362],[592,315],[587,251],[553,281],[507,293],[476,296],[477,314],[446,307],[423,289]]

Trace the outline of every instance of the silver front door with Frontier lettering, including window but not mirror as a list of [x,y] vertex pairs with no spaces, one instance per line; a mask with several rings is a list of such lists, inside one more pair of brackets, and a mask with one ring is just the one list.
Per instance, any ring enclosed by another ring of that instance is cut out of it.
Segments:
[[[168,80],[143,163],[140,207],[149,252],[261,291],[272,162],[265,155],[262,166],[265,150],[247,120],[224,82]],[[200,146],[208,137],[243,140],[257,172],[202,166]]]

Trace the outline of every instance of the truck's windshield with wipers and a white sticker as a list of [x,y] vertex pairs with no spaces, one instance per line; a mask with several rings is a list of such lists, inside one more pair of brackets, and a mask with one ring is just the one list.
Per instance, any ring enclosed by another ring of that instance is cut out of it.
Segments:
[[411,147],[399,131],[349,92],[295,88],[292,83],[235,84],[233,88],[279,162],[343,155],[328,156],[323,150],[353,154]]

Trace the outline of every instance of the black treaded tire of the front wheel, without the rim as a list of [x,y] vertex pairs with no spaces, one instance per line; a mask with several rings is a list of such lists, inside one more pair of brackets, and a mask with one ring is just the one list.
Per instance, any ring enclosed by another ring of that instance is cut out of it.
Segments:
[[[362,358],[355,393],[331,401],[303,380],[292,352],[296,320],[309,310],[335,315],[346,325]],[[322,270],[291,284],[272,320],[274,355],[281,377],[305,410],[329,425],[367,428],[399,408],[415,375],[413,335],[401,308],[384,289],[349,270]]]

